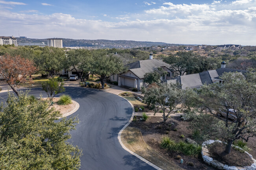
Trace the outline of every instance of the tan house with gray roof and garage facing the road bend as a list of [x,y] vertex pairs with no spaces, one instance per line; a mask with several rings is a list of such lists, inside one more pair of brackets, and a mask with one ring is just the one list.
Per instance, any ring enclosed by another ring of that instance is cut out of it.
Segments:
[[147,86],[143,82],[144,75],[158,70],[158,67],[167,71],[167,75],[161,77],[161,81],[170,79],[174,75],[174,71],[170,70],[170,65],[163,61],[153,59],[153,54],[150,54],[150,59],[130,63],[126,67],[128,67],[127,72],[110,76],[110,81],[117,81],[119,86],[141,90],[141,87]]

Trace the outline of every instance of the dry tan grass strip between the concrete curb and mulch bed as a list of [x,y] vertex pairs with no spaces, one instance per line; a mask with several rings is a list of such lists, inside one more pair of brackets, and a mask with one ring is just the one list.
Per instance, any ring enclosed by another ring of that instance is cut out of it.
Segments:
[[183,170],[174,162],[165,159],[165,157],[161,156],[148,146],[142,138],[141,131],[135,127],[126,127],[124,131],[122,131],[121,140],[126,148],[137,153],[163,170]]

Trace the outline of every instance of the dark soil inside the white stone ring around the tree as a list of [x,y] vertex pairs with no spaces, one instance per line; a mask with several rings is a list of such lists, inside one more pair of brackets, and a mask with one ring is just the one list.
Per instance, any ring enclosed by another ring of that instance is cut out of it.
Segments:
[[231,148],[229,154],[221,156],[225,148],[226,144],[214,142],[210,147],[208,146],[210,157],[228,166],[250,166],[254,163],[248,154],[234,148]]

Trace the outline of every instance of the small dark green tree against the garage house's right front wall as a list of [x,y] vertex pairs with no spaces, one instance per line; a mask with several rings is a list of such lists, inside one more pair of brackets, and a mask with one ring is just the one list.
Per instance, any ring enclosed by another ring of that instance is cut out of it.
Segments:
[[154,72],[146,73],[144,75],[143,81],[148,84],[160,83],[161,76],[164,76],[166,74],[167,72],[163,70],[163,68],[158,67],[158,70],[154,70]]

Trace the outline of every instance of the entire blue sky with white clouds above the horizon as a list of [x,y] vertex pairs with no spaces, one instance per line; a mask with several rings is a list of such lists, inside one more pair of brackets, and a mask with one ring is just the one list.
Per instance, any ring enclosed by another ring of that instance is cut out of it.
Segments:
[[0,0],[0,36],[256,45],[256,0]]

